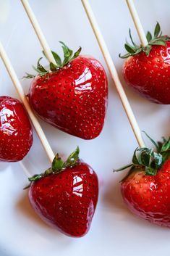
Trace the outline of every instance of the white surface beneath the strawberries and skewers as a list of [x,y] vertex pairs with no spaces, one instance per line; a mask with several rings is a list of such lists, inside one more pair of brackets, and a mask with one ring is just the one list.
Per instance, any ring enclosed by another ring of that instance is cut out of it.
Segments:
[[[118,54],[124,53],[129,27],[138,41],[127,4],[124,0],[91,0],[90,3],[121,74],[123,60]],[[30,5],[51,49],[61,53],[58,41],[66,42],[72,49],[81,45],[83,54],[91,54],[103,63],[80,0],[30,0]],[[153,30],[158,20],[163,33],[170,34],[169,0],[138,0],[135,5],[145,31]],[[25,71],[32,71],[31,65],[41,57],[41,46],[20,1],[0,0],[0,31],[14,69],[22,78]],[[2,62],[0,70],[0,94],[16,96]],[[29,80],[22,84],[26,93]],[[169,106],[152,104],[128,88],[126,91],[140,128],[154,139],[169,136]],[[97,171],[101,190],[93,223],[90,232],[82,239],[71,239],[49,228],[31,209],[27,191],[22,191],[27,180],[20,165],[0,163],[0,255],[169,256],[169,229],[153,226],[133,216],[124,206],[119,192],[119,180],[124,174],[112,173],[113,168],[129,163],[137,146],[112,83],[109,84],[106,123],[97,139],[83,141],[42,121],[41,124],[54,152],[66,156],[78,144],[82,159]],[[24,162],[31,173],[42,172],[48,167],[48,159],[37,136],[34,136],[34,145]]]

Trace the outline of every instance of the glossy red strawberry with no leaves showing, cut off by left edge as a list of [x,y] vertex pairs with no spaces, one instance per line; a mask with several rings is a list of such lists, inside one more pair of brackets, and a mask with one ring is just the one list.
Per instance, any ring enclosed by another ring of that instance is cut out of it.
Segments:
[[22,104],[0,96],[0,161],[22,160],[33,144],[30,121]]

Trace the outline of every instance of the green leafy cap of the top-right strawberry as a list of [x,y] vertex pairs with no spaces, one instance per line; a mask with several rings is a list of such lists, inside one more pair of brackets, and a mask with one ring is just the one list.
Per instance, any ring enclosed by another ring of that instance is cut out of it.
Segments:
[[148,41],[147,46],[145,46],[145,47],[143,47],[141,45],[137,46],[137,44],[135,44],[132,39],[130,29],[129,29],[129,38],[130,38],[132,44],[129,44],[128,42],[126,44],[124,44],[124,48],[127,50],[127,54],[124,54],[124,55],[119,54],[119,57],[122,59],[126,59],[129,56],[134,56],[136,54],[139,54],[141,51],[144,51],[145,54],[148,56],[153,45],[166,46],[166,41],[170,40],[169,36],[162,36],[161,27],[158,22],[156,23],[156,27],[154,30],[154,36],[152,36],[152,34],[149,31],[146,34],[146,38]]

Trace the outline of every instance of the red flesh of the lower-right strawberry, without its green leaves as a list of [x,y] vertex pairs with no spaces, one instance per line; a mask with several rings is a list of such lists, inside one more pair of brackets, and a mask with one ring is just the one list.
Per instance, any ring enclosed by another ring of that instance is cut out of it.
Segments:
[[124,202],[135,215],[170,228],[170,158],[156,176],[133,172],[121,189]]

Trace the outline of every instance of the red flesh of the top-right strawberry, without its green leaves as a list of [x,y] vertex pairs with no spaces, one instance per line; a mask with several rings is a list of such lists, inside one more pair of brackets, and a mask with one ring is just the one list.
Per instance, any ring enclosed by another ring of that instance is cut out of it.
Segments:
[[170,41],[167,46],[152,46],[124,62],[124,78],[137,93],[158,104],[170,104]]

